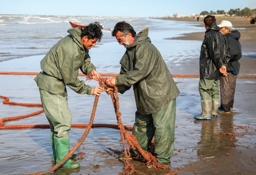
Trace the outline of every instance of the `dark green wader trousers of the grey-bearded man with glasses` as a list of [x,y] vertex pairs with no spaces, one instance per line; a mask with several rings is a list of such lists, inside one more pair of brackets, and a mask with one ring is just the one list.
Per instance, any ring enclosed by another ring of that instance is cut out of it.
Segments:
[[[141,115],[135,113],[132,134],[145,151],[149,150],[155,134],[156,158],[163,165],[170,165],[170,157],[173,155],[175,115],[176,99],[153,114]],[[130,151],[131,156],[136,157],[136,150],[131,149]]]

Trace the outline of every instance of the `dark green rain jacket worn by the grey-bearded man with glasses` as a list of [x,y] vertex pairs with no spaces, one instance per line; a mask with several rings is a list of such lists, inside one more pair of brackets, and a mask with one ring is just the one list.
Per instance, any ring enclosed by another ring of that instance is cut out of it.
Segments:
[[179,95],[179,90],[160,52],[148,37],[148,28],[137,36],[120,61],[121,71],[115,81],[120,93],[133,85],[137,112],[147,115],[166,107]]

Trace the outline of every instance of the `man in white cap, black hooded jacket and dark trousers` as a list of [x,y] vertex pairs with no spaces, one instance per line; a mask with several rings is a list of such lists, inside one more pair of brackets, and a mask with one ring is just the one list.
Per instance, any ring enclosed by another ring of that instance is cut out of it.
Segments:
[[218,26],[220,27],[220,32],[227,39],[230,60],[227,66],[228,75],[220,76],[220,108],[217,113],[230,113],[230,111],[233,111],[236,80],[240,68],[238,60],[242,57],[241,44],[239,42],[241,35],[237,30],[231,31],[232,24],[230,21],[223,20]]

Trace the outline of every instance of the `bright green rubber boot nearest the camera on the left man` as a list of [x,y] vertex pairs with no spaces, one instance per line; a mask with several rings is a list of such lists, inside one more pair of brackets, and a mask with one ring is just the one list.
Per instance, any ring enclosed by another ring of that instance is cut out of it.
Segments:
[[[63,159],[69,152],[69,139],[57,139],[54,138],[55,150],[56,150],[56,163]],[[65,163],[61,165],[64,168],[79,168],[80,164],[71,160],[70,158],[66,160]]]

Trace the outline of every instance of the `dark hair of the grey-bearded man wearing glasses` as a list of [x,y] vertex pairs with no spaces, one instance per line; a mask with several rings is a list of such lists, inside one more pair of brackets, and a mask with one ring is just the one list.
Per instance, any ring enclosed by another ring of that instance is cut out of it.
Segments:
[[112,36],[116,36],[116,33],[118,31],[120,31],[123,36],[128,33],[131,33],[132,37],[135,37],[136,35],[136,32],[134,31],[133,27],[129,23],[126,23],[125,21],[116,23],[111,33]]

